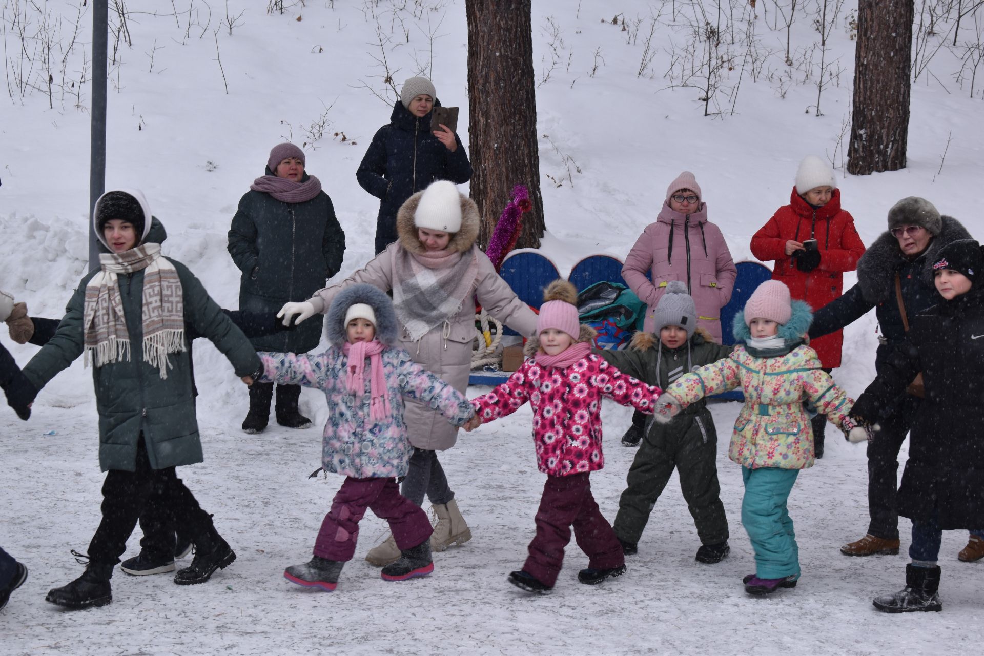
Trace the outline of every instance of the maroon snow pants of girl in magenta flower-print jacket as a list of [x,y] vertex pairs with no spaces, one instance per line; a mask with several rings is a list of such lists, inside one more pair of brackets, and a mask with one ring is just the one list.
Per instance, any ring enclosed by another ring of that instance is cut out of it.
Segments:
[[609,569],[625,565],[622,545],[591,496],[588,474],[547,476],[536,511],[536,537],[529,543],[523,569],[553,587],[564,562],[564,547],[574,539],[587,554],[587,567]]

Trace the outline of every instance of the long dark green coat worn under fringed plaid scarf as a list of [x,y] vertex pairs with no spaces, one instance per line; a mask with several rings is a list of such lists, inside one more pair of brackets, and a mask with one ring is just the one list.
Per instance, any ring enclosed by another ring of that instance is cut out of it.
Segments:
[[[236,328],[187,267],[168,260],[177,269],[184,296],[185,324],[211,339],[229,359],[235,375],[250,376],[263,364],[249,340]],[[31,358],[24,375],[43,388],[58,372],[82,355],[86,284],[92,271],[79,283],[54,337]],[[130,359],[92,367],[95,406],[99,412],[99,467],[102,471],[135,471],[137,440],[143,432],[147,455],[154,469],[201,462],[195,399],[192,393],[188,351],[170,353],[167,378],[144,362],[144,330],[141,323],[144,271],[120,275],[123,314],[130,334]],[[185,348],[188,348],[187,339]]]

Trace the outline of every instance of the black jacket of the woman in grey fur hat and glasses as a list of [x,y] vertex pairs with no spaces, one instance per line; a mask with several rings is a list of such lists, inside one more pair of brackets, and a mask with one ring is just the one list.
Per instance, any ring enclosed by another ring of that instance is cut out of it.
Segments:
[[875,356],[875,369],[881,373],[892,347],[905,339],[905,328],[895,299],[895,273],[899,275],[905,314],[911,325],[917,314],[940,301],[940,294],[933,285],[933,264],[938,260],[937,254],[957,239],[970,238],[970,233],[953,216],[942,218],[940,234],[912,261],[902,255],[898,241],[891,233],[882,233],[858,262],[857,284],[814,313],[810,338],[816,339],[844,328],[876,308],[881,334],[888,342],[879,346]]

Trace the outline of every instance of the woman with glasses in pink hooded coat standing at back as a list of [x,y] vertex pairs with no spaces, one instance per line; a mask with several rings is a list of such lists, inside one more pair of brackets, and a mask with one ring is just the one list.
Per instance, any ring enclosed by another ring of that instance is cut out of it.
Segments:
[[[646,273],[652,271],[651,280]],[[721,341],[721,308],[731,300],[738,269],[720,228],[707,220],[707,203],[701,186],[684,171],[666,188],[666,202],[654,223],[649,223],[629,251],[622,277],[649,306],[646,332],[655,328],[656,303],[670,280],[687,284],[697,306],[697,325]],[[626,447],[638,447],[646,417],[632,416],[632,426],[622,438]]]

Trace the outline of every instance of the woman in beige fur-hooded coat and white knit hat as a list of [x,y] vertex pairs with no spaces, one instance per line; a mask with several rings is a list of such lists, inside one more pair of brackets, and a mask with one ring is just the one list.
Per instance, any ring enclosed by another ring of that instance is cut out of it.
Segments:
[[[315,292],[304,303],[287,303],[280,314],[300,313],[300,323],[312,314],[327,312],[339,290],[360,282],[392,290],[400,322],[396,345],[464,393],[476,335],[476,298],[490,316],[520,334],[531,335],[536,329],[536,315],[475,245],[478,225],[474,201],[459,193],[453,182],[434,182],[400,207],[398,241],[341,284]],[[425,494],[430,499],[438,515],[431,536],[434,551],[462,544],[471,539],[471,531],[438,461],[439,451],[455,446],[458,429],[421,403],[407,405],[406,426],[414,448],[402,495],[417,506],[423,504]],[[383,567],[399,558],[400,550],[390,535],[369,551],[366,561]]]

